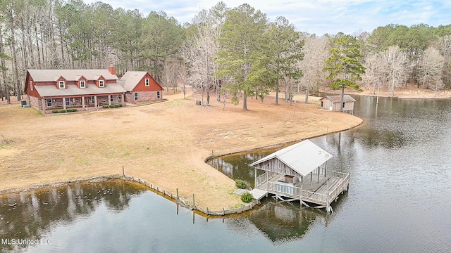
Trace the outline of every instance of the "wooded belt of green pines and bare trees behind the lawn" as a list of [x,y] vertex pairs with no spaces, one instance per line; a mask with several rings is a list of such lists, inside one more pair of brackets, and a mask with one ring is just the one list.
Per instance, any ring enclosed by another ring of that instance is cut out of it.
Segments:
[[[307,34],[248,4],[218,2],[181,24],[164,11],[81,0],[0,2],[0,96],[23,95],[28,69],[145,70],[202,103],[290,100],[323,87],[451,89],[451,25],[389,24],[360,34]],[[204,92],[208,91],[208,92]],[[205,98],[204,98],[205,94]],[[204,101],[205,99],[205,101]],[[307,97],[306,97],[307,101]]]

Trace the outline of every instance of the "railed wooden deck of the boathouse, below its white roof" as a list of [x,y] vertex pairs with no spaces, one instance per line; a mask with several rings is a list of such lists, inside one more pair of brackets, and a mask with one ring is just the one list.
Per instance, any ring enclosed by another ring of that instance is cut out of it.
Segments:
[[[253,189],[254,198],[260,200],[268,193],[276,195],[278,200],[299,200],[302,205],[315,208],[329,209],[330,203],[349,187],[350,175],[338,171],[327,171],[323,176],[312,173],[304,176],[301,182],[286,183],[284,174],[265,172],[256,179],[256,188]],[[257,198],[259,197],[259,198]]]

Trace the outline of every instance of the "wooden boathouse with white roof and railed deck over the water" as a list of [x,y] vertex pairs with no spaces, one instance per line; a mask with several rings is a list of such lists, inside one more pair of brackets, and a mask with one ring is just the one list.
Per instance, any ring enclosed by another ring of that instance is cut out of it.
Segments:
[[[295,143],[249,164],[255,169],[252,196],[268,194],[286,202],[299,200],[307,207],[326,208],[347,190],[350,174],[327,170],[332,155],[309,140]],[[257,169],[264,171],[257,176]]]

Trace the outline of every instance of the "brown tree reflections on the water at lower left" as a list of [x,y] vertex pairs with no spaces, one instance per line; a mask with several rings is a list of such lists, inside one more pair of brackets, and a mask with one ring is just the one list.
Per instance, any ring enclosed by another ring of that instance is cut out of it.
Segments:
[[[42,240],[51,224],[66,226],[89,216],[101,204],[109,212],[121,212],[128,208],[132,197],[144,190],[137,183],[113,180],[1,195],[0,238],[16,242]],[[1,243],[0,252],[17,252],[26,247],[25,243]]]

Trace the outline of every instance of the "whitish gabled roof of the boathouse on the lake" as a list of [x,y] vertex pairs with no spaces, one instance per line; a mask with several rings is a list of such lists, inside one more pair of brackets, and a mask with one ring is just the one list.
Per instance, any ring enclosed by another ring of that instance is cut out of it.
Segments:
[[305,140],[278,150],[271,155],[267,155],[257,162],[249,164],[249,166],[254,166],[271,159],[278,159],[298,174],[307,176],[307,174],[314,171],[314,169],[321,166],[321,164],[330,158],[332,158],[332,155],[311,141]]

